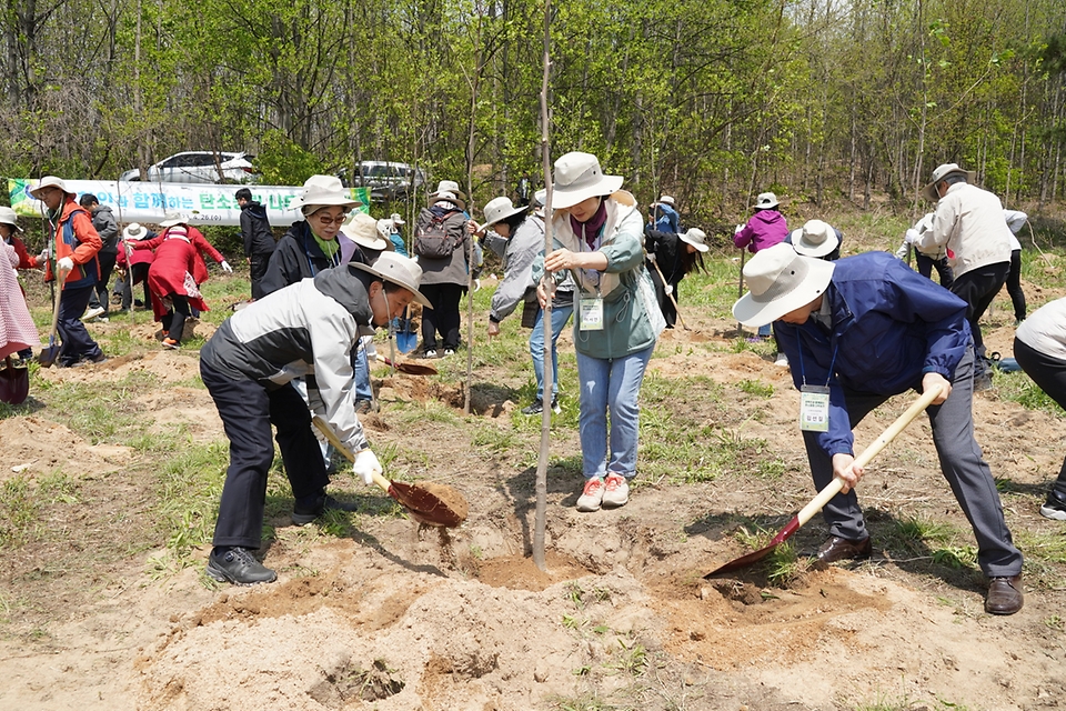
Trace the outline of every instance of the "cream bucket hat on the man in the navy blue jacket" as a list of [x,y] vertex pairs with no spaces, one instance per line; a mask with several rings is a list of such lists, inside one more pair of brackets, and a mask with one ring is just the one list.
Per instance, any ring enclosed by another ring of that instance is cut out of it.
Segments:
[[825,293],[835,268],[784,242],[760,250],[744,267],[751,291],[733,304],[733,317],[753,327],[776,321]]

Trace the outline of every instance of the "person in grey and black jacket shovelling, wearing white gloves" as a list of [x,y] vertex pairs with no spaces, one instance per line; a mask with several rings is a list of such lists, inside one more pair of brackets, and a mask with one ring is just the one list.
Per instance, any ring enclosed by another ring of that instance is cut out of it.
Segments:
[[271,424],[295,498],[292,522],[355,510],[325,493],[330,479],[311,413],[291,381],[306,379],[312,407],[358,452],[353,472],[372,484],[381,464],[355,417],[351,351],[360,336],[398,318],[411,301],[429,306],[421,280],[422,269],[393,252],[373,267],[325,269],[238,311],[200,350],[200,377],[230,440],[209,575],[237,584],[276,579],[250,552],[262,543],[266,473],[274,460]]

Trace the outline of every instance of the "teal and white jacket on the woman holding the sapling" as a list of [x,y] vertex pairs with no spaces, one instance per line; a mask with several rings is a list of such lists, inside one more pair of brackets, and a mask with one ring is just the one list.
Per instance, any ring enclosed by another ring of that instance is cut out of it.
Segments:
[[[655,289],[644,269],[644,219],[636,199],[625,190],[607,198],[607,221],[597,251],[607,258],[607,269],[596,276],[572,270],[577,290],[574,292],[574,348],[590,358],[610,360],[622,358],[655,346],[666,322],[655,301]],[[570,213],[555,212],[552,219],[552,241],[555,249],[573,252],[589,251],[581,237],[570,227]],[[533,266],[533,279],[544,273],[544,254]],[[556,283],[565,272],[554,274]],[[599,281],[599,284],[596,283]],[[603,330],[582,331],[579,299],[603,299]]]

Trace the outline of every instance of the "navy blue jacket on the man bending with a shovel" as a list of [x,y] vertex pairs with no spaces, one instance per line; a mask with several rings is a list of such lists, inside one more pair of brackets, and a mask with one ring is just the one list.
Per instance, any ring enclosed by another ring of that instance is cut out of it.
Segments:
[[835,264],[824,297],[833,313],[829,334],[814,319],[774,322],[796,388],[829,387],[829,431],[818,444],[831,457],[852,453],[842,385],[895,395],[921,389],[928,372],[951,381],[971,341],[966,302],[892,254],[866,252]]

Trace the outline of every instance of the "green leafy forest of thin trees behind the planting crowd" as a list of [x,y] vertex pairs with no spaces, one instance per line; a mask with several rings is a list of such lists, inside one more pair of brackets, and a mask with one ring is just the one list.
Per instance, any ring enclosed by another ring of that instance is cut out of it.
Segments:
[[[540,181],[534,0],[7,0],[4,177],[115,179],[247,150],[264,182],[359,161]],[[556,0],[551,143],[642,203],[732,222],[755,192],[818,207],[958,162],[1030,212],[1066,189],[1062,0]]]

